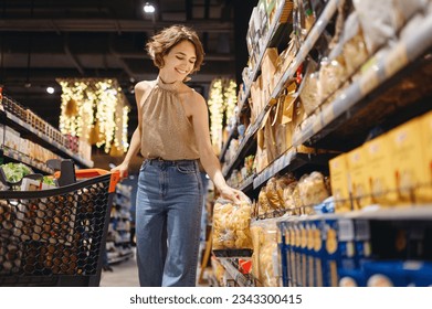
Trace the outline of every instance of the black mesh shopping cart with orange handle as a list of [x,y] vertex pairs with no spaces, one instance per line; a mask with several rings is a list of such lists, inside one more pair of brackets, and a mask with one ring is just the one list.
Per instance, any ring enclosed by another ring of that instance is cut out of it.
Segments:
[[77,170],[73,184],[0,192],[0,286],[98,286],[119,174]]

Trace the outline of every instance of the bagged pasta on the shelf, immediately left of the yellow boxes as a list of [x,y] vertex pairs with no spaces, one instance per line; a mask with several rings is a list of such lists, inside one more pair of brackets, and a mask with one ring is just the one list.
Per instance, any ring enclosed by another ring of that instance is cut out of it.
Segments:
[[[324,175],[320,172],[312,172],[305,175],[298,183],[302,203],[305,206],[319,204],[329,196]],[[307,207],[312,210],[312,207]]]

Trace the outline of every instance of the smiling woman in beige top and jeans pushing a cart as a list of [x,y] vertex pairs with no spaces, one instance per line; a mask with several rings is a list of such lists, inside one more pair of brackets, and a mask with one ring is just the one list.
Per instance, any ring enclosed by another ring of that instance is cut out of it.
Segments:
[[194,286],[201,219],[201,161],[221,195],[245,195],[222,175],[209,134],[204,98],[183,82],[200,70],[203,49],[197,33],[173,25],[146,45],[159,68],[156,81],[135,86],[138,127],[125,160],[124,175],[138,150],[145,161],[137,192],[137,260],[141,286]]

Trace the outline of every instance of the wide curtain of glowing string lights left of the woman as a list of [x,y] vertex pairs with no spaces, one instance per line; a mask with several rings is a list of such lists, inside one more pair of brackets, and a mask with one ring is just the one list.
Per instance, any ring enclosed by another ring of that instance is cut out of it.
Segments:
[[[129,105],[116,79],[57,79],[62,86],[60,129],[63,134],[127,150],[127,114]],[[126,114],[126,115],[125,115]]]

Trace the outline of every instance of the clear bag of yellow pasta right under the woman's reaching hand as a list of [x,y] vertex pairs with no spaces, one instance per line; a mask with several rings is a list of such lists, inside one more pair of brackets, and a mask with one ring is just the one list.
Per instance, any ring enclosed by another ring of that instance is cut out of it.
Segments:
[[233,204],[218,199],[213,209],[213,249],[251,248],[251,201]]

